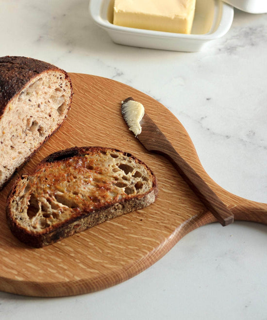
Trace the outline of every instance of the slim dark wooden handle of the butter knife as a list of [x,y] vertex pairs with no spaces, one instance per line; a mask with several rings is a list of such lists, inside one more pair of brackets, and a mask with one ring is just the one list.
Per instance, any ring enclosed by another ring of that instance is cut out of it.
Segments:
[[179,155],[179,153],[169,143],[165,145],[165,150],[154,150],[164,155],[173,164],[184,181],[199,197],[205,207],[216,217],[218,222],[226,226],[234,222],[234,214],[221,201],[217,194],[208,186],[199,174]]

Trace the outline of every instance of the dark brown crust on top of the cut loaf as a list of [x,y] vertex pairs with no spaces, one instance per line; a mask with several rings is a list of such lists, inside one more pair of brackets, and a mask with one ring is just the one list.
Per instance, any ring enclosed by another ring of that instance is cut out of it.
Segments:
[[[44,61],[27,57],[0,57],[0,116],[7,103],[34,77],[47,70],[62,71],[71,85],[66,71]],[[71,86],[72,90],[72,86]]]

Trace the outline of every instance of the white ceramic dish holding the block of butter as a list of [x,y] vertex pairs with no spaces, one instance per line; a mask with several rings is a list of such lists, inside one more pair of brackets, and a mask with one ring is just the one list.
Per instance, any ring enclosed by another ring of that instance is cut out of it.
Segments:
[[89,12],[115,43],[141,48],[200,51],[228,32],[234,17],[233,7],[221,0],[197,0],[191,34],[158,32],[114,25],[113,5],[114,0],[90,0]]

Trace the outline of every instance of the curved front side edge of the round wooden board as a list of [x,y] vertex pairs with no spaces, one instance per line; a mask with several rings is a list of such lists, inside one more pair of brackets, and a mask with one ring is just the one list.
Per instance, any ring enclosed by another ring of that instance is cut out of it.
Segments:
[[146,256],[133,261],[116,271],[109,271],[106,274],[95,276],[94,278],[83,278],[71,281],[58,282],[34,282],[17,279],[8,279],[0,276],[0,291],[36,298],[59,298],[82,294],[88,294],[100,291],[106,288],[114,287],[124,281],[127,281],[141,272],[147,270],[150,266],[165,256],[182,238],[196,228],[216,222],[213,215],[207,215],[203,211],[200,216],[195,216],[174,230],[168,238],[158,247],[151,250]]

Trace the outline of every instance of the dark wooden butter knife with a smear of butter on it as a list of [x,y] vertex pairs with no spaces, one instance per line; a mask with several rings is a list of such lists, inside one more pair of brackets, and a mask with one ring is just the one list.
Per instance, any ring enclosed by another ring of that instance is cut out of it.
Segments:
[[144,106],[141,103],[129,97],[121,102],[121,113],[129,129],[133,131],[141,144],[148,151],[163,155],[172,163],[184,181],[221,225],[226,226],[234,222],[234,215],[231,210],[178,154],[166,136],[145,113]]

